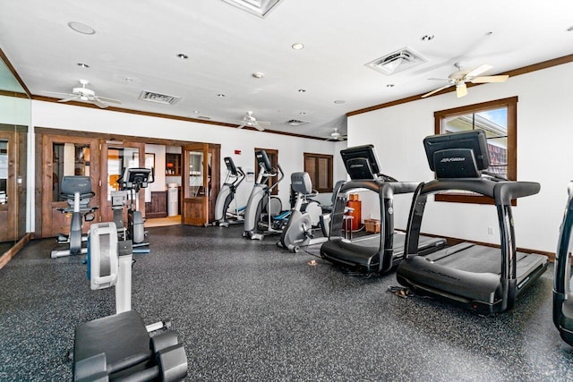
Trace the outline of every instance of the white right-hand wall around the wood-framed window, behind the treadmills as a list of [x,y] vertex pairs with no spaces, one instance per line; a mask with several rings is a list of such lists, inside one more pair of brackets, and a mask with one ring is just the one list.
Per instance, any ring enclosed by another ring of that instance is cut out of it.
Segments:
[[[435,111],[517,96],[517,179],[541,183],[539,194],[519,199],[513,208],[517,246],[554,252],[567,185],[573,179],[573,64],[468,91],[465,98],[448,93],[349,117],[348,146],[373,143],[382,173],[401,181],[428,181],[433,174],[422,140],[434,133]],[[395,201],[397,228],[406,228],[409,203],[409,198]],[[488,226],[494,235],[487,233]],[[499,243],[492,206],[429,201],[423,232]]]

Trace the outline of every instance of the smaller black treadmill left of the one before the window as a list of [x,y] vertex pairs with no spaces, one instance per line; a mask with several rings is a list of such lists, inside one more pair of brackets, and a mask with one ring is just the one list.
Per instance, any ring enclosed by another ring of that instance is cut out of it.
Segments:
[[[394,231],[393,197],[414,192],[418,183],[398,182],[380,174],[379,161],[372,145],[340,151],[351,181],[344,183],[332,209],[329,241],[321,246],[321,258],[363,273],[386,273],[404,258],[406,234]],[[381,208],[381,233],[348,240],[342,234],[346,213],[346,195],[353,190],[376,192]],[[421,237],[420,253],[430,253],[446,245],[446,240]]]

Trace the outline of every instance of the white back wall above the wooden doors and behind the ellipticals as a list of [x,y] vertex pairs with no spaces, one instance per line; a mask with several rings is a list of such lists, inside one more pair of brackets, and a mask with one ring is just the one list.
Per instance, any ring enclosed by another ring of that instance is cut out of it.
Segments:
[[[32,101],[31,125],[82,132],[218,143],[221,145],[221,158],[233,157],[235,166],[243,166],[245,172],[253,170],[254,148],[278,149],[278,162],[286,174],[278,187],[279,197],[285,208],[288,206],[290,174],[304,169],[303,153],[330,154],[339,157],[338,151],[346,147],[346,142],[310,140],[268,132],[253,132],[213,124],[132,115],[43,101]],[[33,143],[33,138],[30,141]],[[156,164],[158,164],[161,155],[156,149],[149,152],[156,152]],[[240,150],[241,155],[235,155],[235,150]],[[29,164],[30,174],[34,174],[34,160],[30,158]],[[225,166],[221,167],[222,183],[227,175],[227,169]],[[335,179],[346,178],[346,170],[339,159],[335,159],[334,167]],[[167,177],[167,181],[168,179]],[[244,181],[237,190],[235,198],[240,206],[246,204],[252,185],[252,182]],[[157,184],[153,187],[156,186]],[[30,187],[30,190],[33,190],[34,184]],[[31,229],[33,230],[33,227]]]

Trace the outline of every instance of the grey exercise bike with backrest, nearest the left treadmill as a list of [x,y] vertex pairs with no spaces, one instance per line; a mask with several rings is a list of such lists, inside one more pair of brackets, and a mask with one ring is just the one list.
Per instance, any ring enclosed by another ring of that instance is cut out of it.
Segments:
[[[312,190],[311,177],[308,173],[293,173],[290,178],[291,188],[296,195],[295,206],[277,245],[296,253],[301,247],[329,240],[330,214],[322,214],[321,205],[308,199],[318,194]],[[312,232],[318,225],[321,226],[322,237],[314,237]]]

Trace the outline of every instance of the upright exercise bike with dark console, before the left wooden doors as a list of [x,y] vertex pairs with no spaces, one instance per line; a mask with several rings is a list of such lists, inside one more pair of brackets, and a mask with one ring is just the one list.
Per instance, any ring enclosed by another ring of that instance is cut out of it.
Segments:
[[[124,174],[117,180],[120,191],[111,193],[114,222],[122,240],[131,240],[133,247],[150,245],[145,240],[145,219],[137,209],[137,198],[141,189],[147,188],[154,182],[150,168],[127,167]],[[129,201],[128,201],[129,200]],[[124,205],[127,208],[127,226],[124,225]]]

